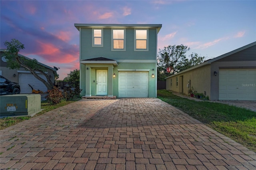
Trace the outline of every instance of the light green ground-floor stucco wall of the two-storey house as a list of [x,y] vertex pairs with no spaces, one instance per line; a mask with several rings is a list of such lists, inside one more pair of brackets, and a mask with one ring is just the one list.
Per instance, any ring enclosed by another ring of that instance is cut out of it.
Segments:
[[[89,68],[88,70],[86,68]],[[156,63],[120,63],[118,66],[112,64],[80,64],[80,88],[82,96],[96,95],[96,70],[108,70],[108,96],[118,97],[118,69],[146,70],[148,69],[148,97],[156,97]],[[154,70],[152,70],[154,69]],[[113,74],[116,77],[113,78]],[[87,82],[87,83],[86,83]],[[89,83],[88,83],[89,82]]]

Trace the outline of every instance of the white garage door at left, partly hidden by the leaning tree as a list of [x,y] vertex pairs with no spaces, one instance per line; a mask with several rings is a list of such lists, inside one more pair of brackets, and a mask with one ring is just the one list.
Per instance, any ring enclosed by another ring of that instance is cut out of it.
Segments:
[[[41,78],[46,80],[46,77],[42,74],[38,74]],[[42,90],[43,92],[47,91],[46,86],[36,79],[31,73],[19,73],[19,84],[20,84],[20,93],[32,93],[32,88],[28,86],[30,84],[34,90]]]

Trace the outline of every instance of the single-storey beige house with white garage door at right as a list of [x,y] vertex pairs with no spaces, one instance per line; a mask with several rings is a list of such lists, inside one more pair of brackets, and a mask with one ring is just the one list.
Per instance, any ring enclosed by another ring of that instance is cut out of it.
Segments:
[[193,87],[210,100],[256,100],[256,42],[166,77],[166,90]]

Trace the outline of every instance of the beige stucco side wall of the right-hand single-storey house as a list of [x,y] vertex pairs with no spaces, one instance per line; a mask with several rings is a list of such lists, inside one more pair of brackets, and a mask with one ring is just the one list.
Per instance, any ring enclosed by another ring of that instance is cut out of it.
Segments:
[[[211,84],[211,66],[206,65],[188,72],[176,74],[166,79],[166,90],[172,90],[174,92],[180,92],[188,95],[187,84],[191,82],[190,86],[194,88],[198,93],[206,92],[206,96],[210,98],[210,84]],[[183,78],[182,78],[183,76]],[[176,77],[178,77],[178,86],[176,86]],[[172,79],[172,86],[170,82]],[[183,86],[182,86],[183,79]],[[182,92],[183,87],[183,92]]]

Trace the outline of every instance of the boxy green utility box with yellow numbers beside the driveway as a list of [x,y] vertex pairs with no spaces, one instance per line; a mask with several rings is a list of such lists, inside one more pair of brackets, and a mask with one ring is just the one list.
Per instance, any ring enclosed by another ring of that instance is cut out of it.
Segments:
[[0,116],[30,116],[41,111],[40,94],[0,96]]

